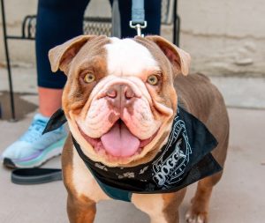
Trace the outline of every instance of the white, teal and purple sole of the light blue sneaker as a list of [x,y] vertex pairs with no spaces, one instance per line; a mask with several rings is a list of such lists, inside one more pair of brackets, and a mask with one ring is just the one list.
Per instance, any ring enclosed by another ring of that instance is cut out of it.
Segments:
[[8,158],[4,159],[4,167],[9,168],[32,168],[32,167],[40,167],[48,160],[59,156],[62,153],[63,145],[64,145],[65,138],[57,141],[57,143],[50,145],[42,153],[34,158],[33,160],[27,161],[14,161]]

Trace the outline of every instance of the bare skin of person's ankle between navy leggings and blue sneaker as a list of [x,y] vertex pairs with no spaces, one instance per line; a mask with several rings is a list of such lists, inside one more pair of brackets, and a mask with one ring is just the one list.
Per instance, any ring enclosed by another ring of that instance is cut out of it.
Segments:
[[38,87],[40,113],[43,116],[51,116],[62,106],[63,89]]

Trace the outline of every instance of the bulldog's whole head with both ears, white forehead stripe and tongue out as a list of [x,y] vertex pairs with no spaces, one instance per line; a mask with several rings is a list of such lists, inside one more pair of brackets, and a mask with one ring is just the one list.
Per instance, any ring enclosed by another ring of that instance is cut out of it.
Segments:
[[63,109],[73,137],[110,167],[148,162],[166,142],[177,109],[173,78],[190,56],[159,36],[82,35],[49,51],[67,75]]

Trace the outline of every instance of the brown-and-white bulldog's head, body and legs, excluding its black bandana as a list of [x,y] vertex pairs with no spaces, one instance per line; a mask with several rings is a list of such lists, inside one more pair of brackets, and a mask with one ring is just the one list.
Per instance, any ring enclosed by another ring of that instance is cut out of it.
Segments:
[[[67,75],[63,109],[84,156],[102,169],[152,161],[169,140],[178,106],[215,136],[212,155],[223,167],[229,120],[223,98],[208,78],[187,76],[190,56],[159,36],[119,40],[81,35],[49,51],[52,71]],[[70,222],[94,222],[95,204],[110,199],[75,149],[64,145],[62,165]],[[177,146],[177,145],[176,145]],[[208,221],[213,186],[222,172],[198,183],[186,221]],[[130,177],[130,175],[127,175]],[[131,201],[152,223],[177,223],[186,188],[171,193],[133,193]]]

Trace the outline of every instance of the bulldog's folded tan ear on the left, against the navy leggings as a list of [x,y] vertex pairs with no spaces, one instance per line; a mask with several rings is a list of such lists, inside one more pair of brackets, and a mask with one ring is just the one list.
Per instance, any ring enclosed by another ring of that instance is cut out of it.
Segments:
[[51,71],[56,72],[58,69],[68,71],[68,64],[71,63],[72,58],[77,55],[79,49],[95,38],[95,35],[79,35],[70,41],[66,41],[61,45],[49,50],[49,63]]

